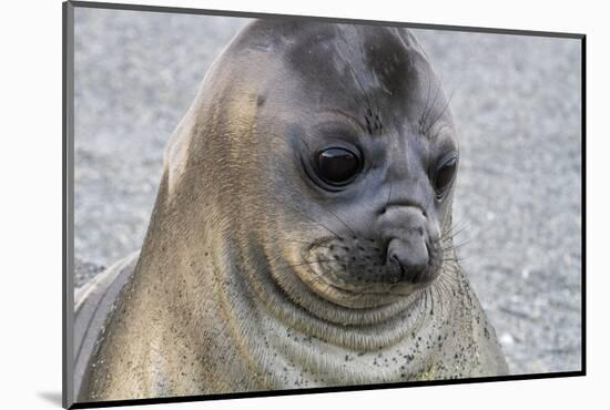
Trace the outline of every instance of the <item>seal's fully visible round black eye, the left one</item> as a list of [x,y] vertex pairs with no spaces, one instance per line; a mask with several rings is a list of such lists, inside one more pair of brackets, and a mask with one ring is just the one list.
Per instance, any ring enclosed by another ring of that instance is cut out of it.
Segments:
[[317,156],[317,171],[327,184],[345,185],[360,171],[360,157],[344,147],[326,148]]

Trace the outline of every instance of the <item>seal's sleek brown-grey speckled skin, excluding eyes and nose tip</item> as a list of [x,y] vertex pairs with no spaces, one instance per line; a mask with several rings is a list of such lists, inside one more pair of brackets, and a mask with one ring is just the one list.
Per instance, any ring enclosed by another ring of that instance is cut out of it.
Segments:
[[[167,146],[140,255],[77,297],[78,401],[506,373],[430,182],[447,106],[407,30],[246,27]],[[366,161],[328,193],[305,164],[333,139]],[[428,283],[387,262],[416,228]]]

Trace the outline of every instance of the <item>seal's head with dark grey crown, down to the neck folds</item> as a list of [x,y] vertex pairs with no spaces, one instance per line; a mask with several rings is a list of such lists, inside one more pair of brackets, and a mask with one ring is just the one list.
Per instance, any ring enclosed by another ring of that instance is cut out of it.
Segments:
[[170,161],[189,153],[174,174],[254,281],[318,310],[375,309],[443,273],[458,145],[407,30],[257,21],[190,117],[190,148],[170,147]]

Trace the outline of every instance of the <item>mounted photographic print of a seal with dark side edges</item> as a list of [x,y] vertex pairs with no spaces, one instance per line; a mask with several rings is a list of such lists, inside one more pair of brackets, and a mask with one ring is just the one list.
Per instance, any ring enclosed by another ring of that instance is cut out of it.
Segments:
[[106,7],[64,406],[583,375],[583,35]]

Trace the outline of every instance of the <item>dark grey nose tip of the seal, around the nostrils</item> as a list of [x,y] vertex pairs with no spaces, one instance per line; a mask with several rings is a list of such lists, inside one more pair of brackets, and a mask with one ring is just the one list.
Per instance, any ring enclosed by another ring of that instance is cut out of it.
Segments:
[[390,240],[386,263],[397,266],[400,270],[400,281],[421,284],[430,279],[429,275],[426,275],[430,265],[430,254],[423,236],[409,240]]

